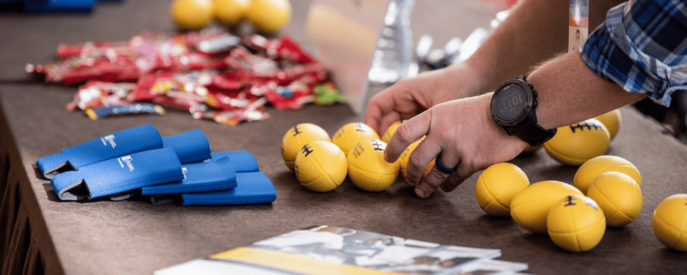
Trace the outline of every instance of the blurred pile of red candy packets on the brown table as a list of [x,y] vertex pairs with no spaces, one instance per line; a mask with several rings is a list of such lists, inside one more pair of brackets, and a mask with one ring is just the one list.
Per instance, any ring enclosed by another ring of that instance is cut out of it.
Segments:
[[60,61],[27,65],[46,82],[80,84],[67,109],[97,119],[188,110],[194,118],[235,125],[264,120],[266,104],[298,109],[344,99],[322,63],[289,36],[234,36],[219,28],[129,41],[59,45]]

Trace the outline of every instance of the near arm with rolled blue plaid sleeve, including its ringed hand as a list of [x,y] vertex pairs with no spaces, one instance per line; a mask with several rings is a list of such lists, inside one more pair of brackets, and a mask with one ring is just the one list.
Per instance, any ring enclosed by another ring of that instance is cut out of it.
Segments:
[[[528,80],[537,90],[539,124],[553,129],[647,95],[664,102],[672,91],[687,89],[687,16],[682,7],[678,0],[630,1],[609,12],[581,52],[532,72]],[[406,169],[406,181],[418,196],[427,197],[440,186],[449,192],[477,170],[506,162],[526,146],[491,121],[491,95],[438,104],[398,127],[385,150],[387,161],[427,135]],[[425,166],[439,153],[444,164],[457,170],[447,175],[434,166],[423,177]]]

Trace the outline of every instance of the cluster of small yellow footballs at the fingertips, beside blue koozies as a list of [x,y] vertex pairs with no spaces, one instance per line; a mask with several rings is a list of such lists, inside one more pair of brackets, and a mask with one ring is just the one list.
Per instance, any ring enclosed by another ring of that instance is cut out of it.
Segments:
[[[341,126],[331,137],[312,123],[297,124],[282,139],[282,159],[306,188],[327,192],[343,183],[346,176],[355,186],[370,192],[385,190],[396,181],[407,164],[409,150],[394,163],[384,160],[386,142],[401,122],[387,129],[381,138],[363,122]],[[417,146],[417,144],[415,144]],[[431,167],[431,166],[430,166]]]

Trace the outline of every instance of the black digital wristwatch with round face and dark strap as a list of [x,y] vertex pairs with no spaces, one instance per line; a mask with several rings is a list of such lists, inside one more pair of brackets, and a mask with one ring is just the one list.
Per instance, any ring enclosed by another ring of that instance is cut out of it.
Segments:
[[499,86],[491,98],[491,119],[508,135],[515,135],[530,146],[539,146],[556,134],[556,129],[543,129],[537,124],[537,91],[518,76]]

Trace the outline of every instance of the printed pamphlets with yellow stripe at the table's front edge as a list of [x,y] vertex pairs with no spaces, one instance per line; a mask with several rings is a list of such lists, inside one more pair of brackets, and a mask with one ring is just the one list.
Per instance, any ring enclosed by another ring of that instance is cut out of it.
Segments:
[[528,268],[499,256],[495,249],[317,225],[154,274],[516,274]]

